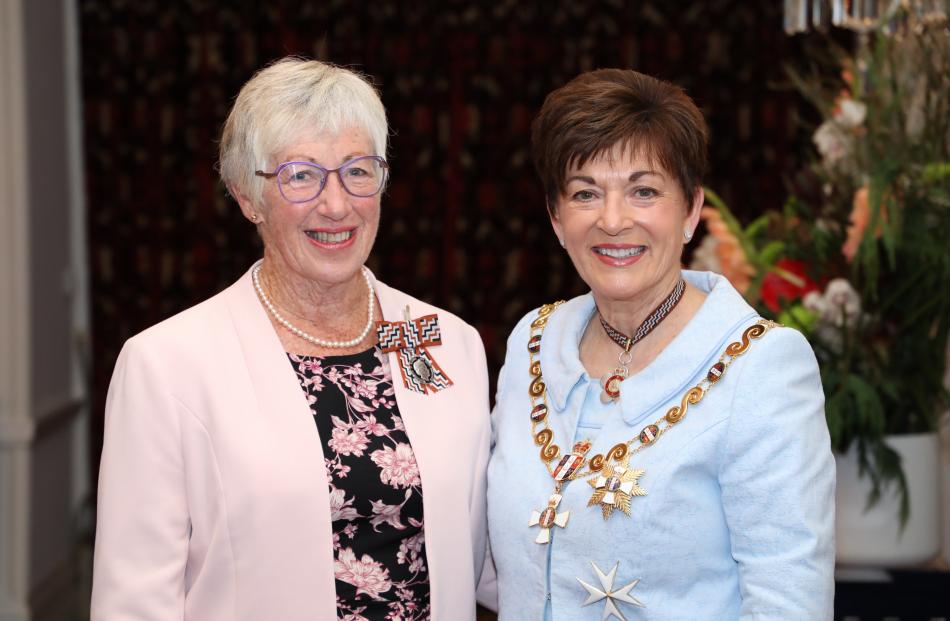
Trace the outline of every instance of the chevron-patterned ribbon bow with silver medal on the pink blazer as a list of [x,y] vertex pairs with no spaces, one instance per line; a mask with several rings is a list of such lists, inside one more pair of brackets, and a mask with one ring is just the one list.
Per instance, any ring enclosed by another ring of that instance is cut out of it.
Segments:
[[427,394],[452,385],[452,380],[428,350],[442,344],[437,315],[424,315],[410,321],[377,321],[376,334],[383,353],[399,354],[399,371],[406,388]]

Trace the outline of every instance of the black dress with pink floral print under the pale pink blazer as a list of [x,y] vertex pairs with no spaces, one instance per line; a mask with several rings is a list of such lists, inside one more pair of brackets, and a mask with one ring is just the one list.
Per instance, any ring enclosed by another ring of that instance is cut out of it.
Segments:
[[288,354],[330,482],[337,617],[428,619],[422,481],[385,354]]

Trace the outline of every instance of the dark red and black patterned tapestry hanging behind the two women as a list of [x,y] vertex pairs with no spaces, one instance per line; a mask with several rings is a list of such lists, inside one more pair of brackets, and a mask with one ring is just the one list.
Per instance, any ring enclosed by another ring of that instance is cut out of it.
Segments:
[[[259,256],[215,172],[241,85],[286,54],[355,67],[382,93],[391,185],[369,262],[481,332],[492,373],[517,319],[584,291],[528,154],[544,95],[629,67],[683,86],[712,128],[708,184],[743,215],[778,207],[807,143],[770,88],[800,44],[781,3],[81,0],[94,331],[92,437],[122,343]],[[221,378],[227,382],[227,378]]]

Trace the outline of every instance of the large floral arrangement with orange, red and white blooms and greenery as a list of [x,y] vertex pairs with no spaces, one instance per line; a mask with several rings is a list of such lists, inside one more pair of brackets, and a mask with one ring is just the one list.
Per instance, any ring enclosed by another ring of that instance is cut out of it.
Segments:
[[[933,431],[948,403],[950,37],[906,7],[835,49],[833,79],[790,76],[820,111],[811,165],[781,213],[742,226],[714,193],[693,266],[801,330],[821,367],[832,444],[909,503],[885,436]],[[827,75],[827,66],[824,67]]]

